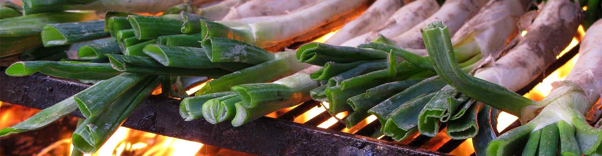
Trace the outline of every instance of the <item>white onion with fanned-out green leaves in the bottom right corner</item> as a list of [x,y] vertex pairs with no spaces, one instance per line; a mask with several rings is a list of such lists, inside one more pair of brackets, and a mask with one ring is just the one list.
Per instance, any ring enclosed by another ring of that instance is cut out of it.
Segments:
[[[601,32],[602,20],[598,20],[583,38],[579,49],[580,57],[571,73],[564,81],[554,82],[551,94],[541,101],[548,105],[532,121],[489,143],[488,155],[512,154],[515,149],[522,148],[524,143],[526,146],[523,155],[533,155],[536,151],[539,154],[559,152],[562,155],[602,155],[602,129],[591,127],[585,119],[585,114],[600,98]],[[557,132],[545,133],[548,127],[557,127]],[[560,147],[557,147],[559,142]]]

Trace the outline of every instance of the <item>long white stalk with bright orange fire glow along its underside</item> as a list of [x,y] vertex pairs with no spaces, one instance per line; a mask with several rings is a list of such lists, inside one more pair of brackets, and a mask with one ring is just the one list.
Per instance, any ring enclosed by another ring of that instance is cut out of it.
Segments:
[[[216,37],[233,37],[236,40],[246,41],[264,49],[284,47],[283,44],[288,45],[294,41],[311,40],[334,30],[347,20],[352,19],[352,17],[358,16],[368,5],[369,1],[362,0],[326,0],[290,14],[235,26],[231,28],[232,31],[222,31],[221,28],[204,28],[202,34],[220,35]],[[208,26],[206,23],[203,23],[203,25]],[[232,36],[231,33],[234,33],[234,35]]]

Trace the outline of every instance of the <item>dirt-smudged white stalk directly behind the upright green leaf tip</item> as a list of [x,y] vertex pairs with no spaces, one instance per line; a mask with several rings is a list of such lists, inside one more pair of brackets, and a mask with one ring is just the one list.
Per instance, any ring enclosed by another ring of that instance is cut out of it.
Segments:
[[471,19],[487,2],[488,0],[445,1],[445,3],[441,5],[441,8],[435,14],[423,22],[418,23],[413,28],[409,29],[409,31],[406,31],[397,37],[391,38],[391,40],[395,41],[397,46],[402,47],[403,49],[424,49],[424,44],[422,44],[422,35],[420,33],[421,28],[426,27],[432,22],[440,20],[447,25],[450,35],[453,36],[456,34],[458,29],[460,29],[464,23]]

